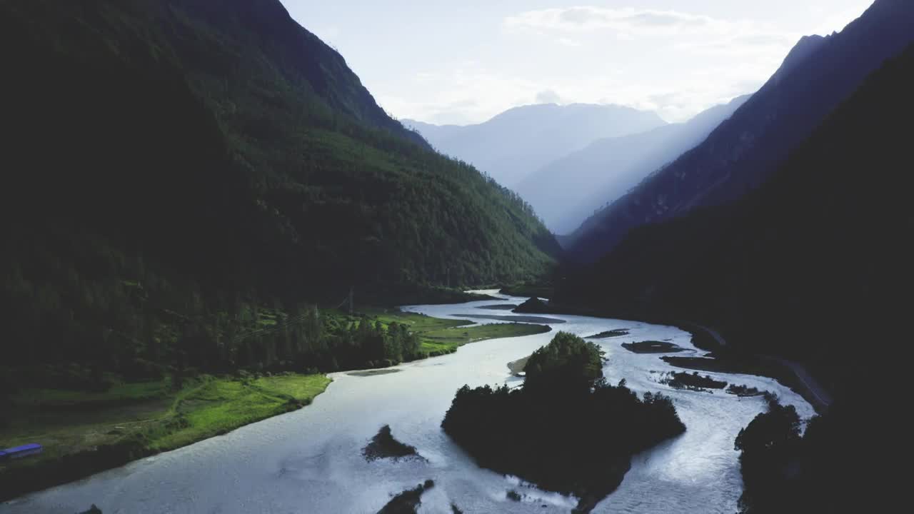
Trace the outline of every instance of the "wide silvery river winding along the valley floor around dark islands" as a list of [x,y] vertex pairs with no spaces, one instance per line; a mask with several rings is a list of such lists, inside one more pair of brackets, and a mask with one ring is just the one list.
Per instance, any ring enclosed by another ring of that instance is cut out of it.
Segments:
[[[524,300],[503,298],[403,308],[465,319],[467,315],[510,315],[510,311],[479,307]],[[401,365],[396,373],[370,377],[335,373],[327,391],[300,411],[19,498],[0,505],[0,513],[72,514],[93,503],[105,514],[376,513],[392,495],[427,478],[434,479],[436,487],[422,497],[423,513],[450,514],[452,504],[466,513],[569,512],[575,504],[569,498],[475,466],[441,432],[441,419],[463,384],[519,383],[521,379],[511,377],[506,363],[547,344],[556,330],[588,337],[614,328],[626,328],[630,334],[595,340],[609,358],[603,369],[607,379],[612,383],[625,379],[634,391],[671,396],[686,432],[635,456],[622,486],[594,512],[735,512],[742,480],[733,441],[739,429],[763,411],[763,401],[722,391],[671,389],[657,381],[658,372],[673,370],[659,356],[634,354],[620,346],[668,340],[694,352],[680,355],[704,353],[692,346],[688,333],[675,327],[588,316],[547,317],[564,323],[551,324],[552,333],[466,345],[448,356]],[[796,406],[803,419],[813,415],[809,403],[775,380],[709,374],[776,392],[782,402]],[[416,446],[425,460],[367,462],[362,448],[385,424],[397,439]],[[510,489],[524,494],[524,501],[507,499]]]

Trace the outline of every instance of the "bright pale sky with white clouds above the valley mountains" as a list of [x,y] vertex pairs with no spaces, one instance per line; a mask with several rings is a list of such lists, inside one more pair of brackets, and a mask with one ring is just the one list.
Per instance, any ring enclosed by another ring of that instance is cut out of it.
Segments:
[[873,0],[282,0],[387,112],[482,123],[533,103],[681,122],[756,91],[796,41]]

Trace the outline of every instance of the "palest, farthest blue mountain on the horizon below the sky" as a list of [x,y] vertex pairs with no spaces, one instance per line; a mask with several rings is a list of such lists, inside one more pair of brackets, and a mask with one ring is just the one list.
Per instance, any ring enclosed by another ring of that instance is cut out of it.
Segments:
[[619,105],[540,104],[515,107],[485,123],[430,125],[411,120],[444,155],[476,166],[514,187],[547,163],[604,137],[638,134],[666,124],[654,112]]

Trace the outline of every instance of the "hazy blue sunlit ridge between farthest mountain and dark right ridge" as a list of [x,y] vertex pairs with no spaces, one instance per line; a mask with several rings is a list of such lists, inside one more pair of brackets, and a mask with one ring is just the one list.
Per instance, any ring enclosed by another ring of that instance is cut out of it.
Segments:
[[549,230],[567,234],[594,210],[622,197],[644,177],[704,141],[747,100],[748,95],[741,96],[685,123],[594,141],[540,168],[515,191],[533,206]]

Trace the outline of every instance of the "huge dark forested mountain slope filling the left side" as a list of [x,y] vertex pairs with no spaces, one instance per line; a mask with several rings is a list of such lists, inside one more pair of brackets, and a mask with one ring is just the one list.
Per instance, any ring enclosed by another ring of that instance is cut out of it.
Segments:
[[555,262],[520,198],[390,119],[279,0],[3,2],[0,59],[16,365],[183,366],[180,341],[269,360],[232,346],[265,306]]

